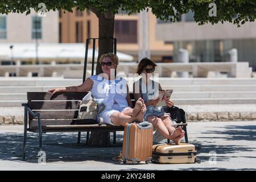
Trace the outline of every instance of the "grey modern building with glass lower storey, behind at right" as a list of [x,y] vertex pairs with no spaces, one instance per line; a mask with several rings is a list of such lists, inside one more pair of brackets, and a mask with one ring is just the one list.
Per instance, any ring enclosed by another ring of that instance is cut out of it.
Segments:
[[[256,67],[256,22],[241,27],[233,23],[198,26],[193,13],[180,16],[180,22],[158,20],[156,39],[174,46],[174,61],[180,48],[189,51],[189,62],[227,61],[228,51],[236,48],[238,61]],[[254,68],[255,69],[255,68]]]

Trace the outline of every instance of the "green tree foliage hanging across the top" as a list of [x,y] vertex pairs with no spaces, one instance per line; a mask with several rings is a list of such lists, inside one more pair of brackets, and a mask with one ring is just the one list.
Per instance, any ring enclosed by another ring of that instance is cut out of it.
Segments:
[[[126,11],[129,14],[139,13],[150,8],[152,13],[161,20],[175,22],[180,14],[189,10],[195,13],[195,21],[199,24],[233,22],[240,26],[245,22],[253,22],[256,18],[255,0],[1,0],[0,13],[27,13],[30,9],[39,10],[39,3],[45,3],[47,10],[72,11],[73,7],[79,10],[94,9],[98,13],[112,11],[117,14],[118,10]],[[209,16],[209,4],[216,3],[217,16]],[[233,18],[235,15],[236,18]]]

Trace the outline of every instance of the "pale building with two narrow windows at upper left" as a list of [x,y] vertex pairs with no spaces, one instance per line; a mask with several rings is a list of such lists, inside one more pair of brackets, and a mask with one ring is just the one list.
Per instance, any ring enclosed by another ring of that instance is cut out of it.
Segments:
[[49,11],[40,17],[35,11],[26,15],[0,15],[0,43],[57,43],[59,42],[58,13]]

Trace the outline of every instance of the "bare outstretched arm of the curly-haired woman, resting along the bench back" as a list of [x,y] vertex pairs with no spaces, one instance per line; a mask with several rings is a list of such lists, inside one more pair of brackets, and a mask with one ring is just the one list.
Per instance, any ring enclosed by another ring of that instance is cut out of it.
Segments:
[[92,86],[93,81],[90,78],[87,78],[81,85],[49,89],[48,92],[53,94],[57,92],[88,92],[92,89]]

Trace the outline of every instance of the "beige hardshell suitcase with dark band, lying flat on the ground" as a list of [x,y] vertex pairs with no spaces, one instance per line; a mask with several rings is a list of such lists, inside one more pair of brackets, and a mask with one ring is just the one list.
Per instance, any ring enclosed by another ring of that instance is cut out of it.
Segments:
[[152,162],[160,164],[200,163],[197,159],[196,146],[189,143],[164,143],[154,145]]

